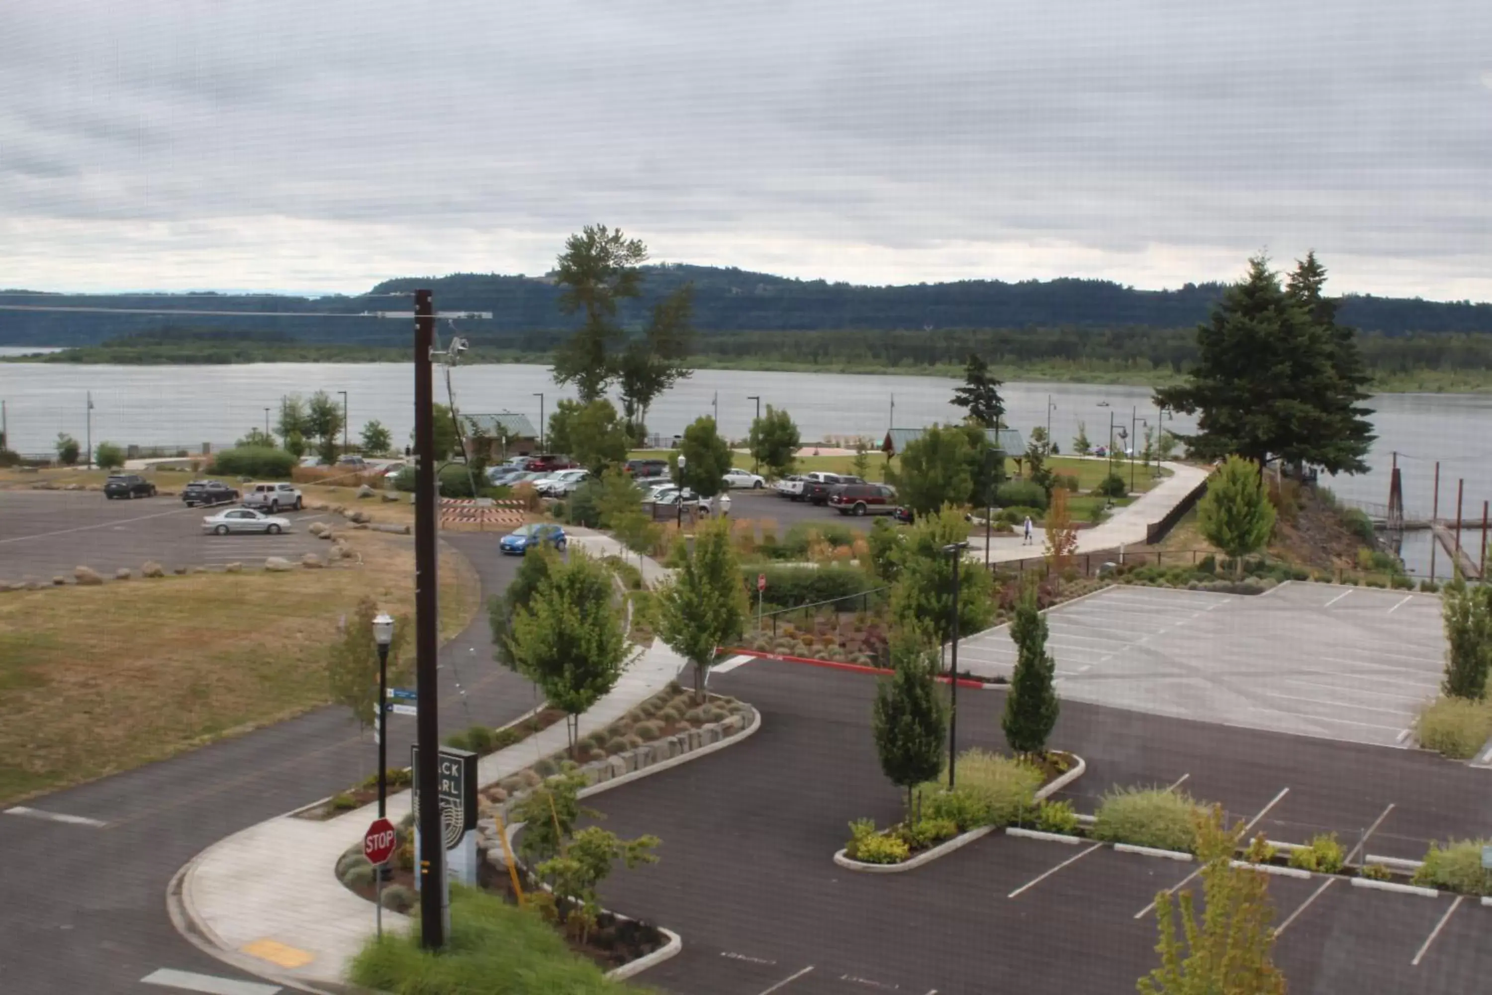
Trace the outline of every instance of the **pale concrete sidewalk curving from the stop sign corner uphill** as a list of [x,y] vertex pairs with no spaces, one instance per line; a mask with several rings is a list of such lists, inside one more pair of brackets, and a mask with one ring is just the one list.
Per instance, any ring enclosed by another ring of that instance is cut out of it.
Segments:
[[[592,555],[613,552],[604,543],[615,543],[588,530],[574,542]],[[658,564],[645,562],[649,573],[667,574]],[[580,735],[610,725],[662,691],[685,665],[682,656],[655,640],[630,662],[610,694],[580,716]],[[483,756],[477,762],[479,785],[497,783],[567,744],[565,725],[551,725]],[[407,791],[391,795],[388,817],[401,819],[409,804]],[[337,880],[334,867],[376,816],[377,803],[325,822],[283,814],[219,840],[182,871],[186,929],[201,934],[219,959],[282,985],[343,983],[352,958],[373,935],[374,910]],[[409,917],[385,910],[383,925],[407,929]]]

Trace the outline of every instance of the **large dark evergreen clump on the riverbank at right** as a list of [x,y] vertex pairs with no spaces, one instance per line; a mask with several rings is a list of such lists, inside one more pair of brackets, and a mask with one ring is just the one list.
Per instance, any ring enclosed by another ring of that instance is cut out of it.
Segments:
[[[1255,257],[1244,280],[1225,291],[1198,328],[1189,382],[1155,394],[1164,407],[1200,412],[1198,431],[1182,436],[1194,455],[1367,470],[1362,456],[1373,437],[1365,409],[1356,407],[1356,346],[1350,330],[1326,327],[1308,310],[1311,285],[1307,274],[1298,291],[1286,292],[1268,260]],[[1322,313],[1326,307],[1334,304],[1322,303]]]

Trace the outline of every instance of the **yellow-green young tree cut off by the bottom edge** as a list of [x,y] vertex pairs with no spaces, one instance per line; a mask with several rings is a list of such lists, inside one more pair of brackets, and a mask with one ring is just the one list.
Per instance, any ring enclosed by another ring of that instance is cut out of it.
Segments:
[[1226,826],[1220,806],[1197,817],[1204,911],[1198,919],[1189,889],[1155,897],[1161,967],[1140,979],[1141,995],[1285,995],[1285,976],[1274,967],[1270,879],[1234,867],[1243,834],[1243,823]]

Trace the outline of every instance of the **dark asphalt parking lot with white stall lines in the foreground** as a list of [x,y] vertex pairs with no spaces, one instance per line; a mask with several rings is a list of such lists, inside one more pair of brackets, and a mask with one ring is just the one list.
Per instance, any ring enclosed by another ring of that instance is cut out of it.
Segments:
[[[639,980],[691,995],[1134,992],[1156,965],[1150,904],[1195,886],[1195,865],[991,835],[906,874],[831,855],[846,823],[901,814],[870,735],[874,679],[755,661],[712,677],[752,701],[749,740],[592,800],[624,837],[655,832],[659,862],[618,873],[607,905],[683,934]],[[961,746],[1001,749],[1003,691],[959,698]],[[1486,771],[1411,750],[1229,728],[1064,701],[1053,744],[1088,761],[1068,798],[1177,785],[1273,840],[1334,831],[1349,852],[1423,855],[1483,832]],[[1074,859],[1076,858],[1076,859]],[[1492,908],[1270,879],[1276,959],[1292,992],[1480,991]]]

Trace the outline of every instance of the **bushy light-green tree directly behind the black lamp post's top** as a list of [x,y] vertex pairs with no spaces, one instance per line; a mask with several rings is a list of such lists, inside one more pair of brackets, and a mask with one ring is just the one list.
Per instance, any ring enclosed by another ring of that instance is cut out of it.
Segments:
[[[953,635],[953,556],[950,543],[968,539],[968,522],[953,509],[924,515],[907,530],[891,589],[891,616],[898,627],[922,627],[938,646]],[[979,564],[961,564],[958,631],[971,635],[995,616],[994,580]]]

